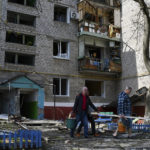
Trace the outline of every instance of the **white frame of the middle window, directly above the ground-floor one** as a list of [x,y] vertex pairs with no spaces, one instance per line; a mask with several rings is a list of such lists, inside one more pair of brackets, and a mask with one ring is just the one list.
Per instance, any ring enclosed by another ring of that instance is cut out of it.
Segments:
[[[58,42],[58,56],[54,56],[54,42]],[[67,43],[67,57],[62,57],[62,42]],[[62,41],[62,40],[53,40],[53,58],[58,58],[58,59],[65,59],[69,60],[70,59],[70,42],[68,41]]]

